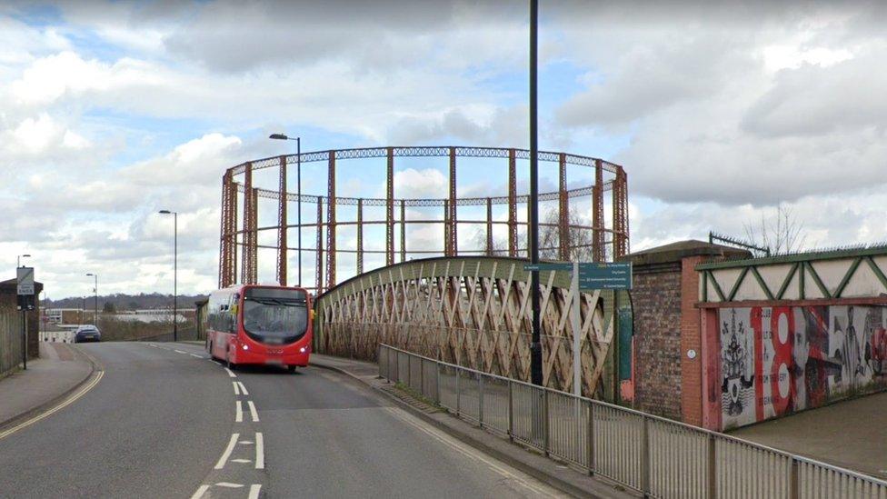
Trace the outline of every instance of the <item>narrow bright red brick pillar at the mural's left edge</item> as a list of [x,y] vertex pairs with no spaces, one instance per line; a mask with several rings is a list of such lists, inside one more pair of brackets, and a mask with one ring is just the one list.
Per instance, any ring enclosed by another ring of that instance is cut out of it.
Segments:
[[[681,261],[681,408],[683,422],[703,424],[702,331],[700,310],[694,306],[699,296],[699,274],[694,267],[702,256]],[[695,358],[687,353],[693,350]]]

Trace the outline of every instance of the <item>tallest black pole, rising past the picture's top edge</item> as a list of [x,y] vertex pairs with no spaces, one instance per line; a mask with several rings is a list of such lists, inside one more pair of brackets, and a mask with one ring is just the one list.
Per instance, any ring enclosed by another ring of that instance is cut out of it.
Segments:
[[541,385],[542,343],[539,324],[539,144],[538,116],[536,113],[536,66],[539,24],[539,0],[530,0],[530,263],[537,265],[531,272],[533,284],[533,338],[530,343],[530,381]]

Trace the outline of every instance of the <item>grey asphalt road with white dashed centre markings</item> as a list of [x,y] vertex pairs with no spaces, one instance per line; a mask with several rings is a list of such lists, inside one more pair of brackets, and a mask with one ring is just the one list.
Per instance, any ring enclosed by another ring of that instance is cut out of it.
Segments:
[[0,439],[0,496],[558,495],[340,374],[229,372],[195,344],[82,348],[103,378]]

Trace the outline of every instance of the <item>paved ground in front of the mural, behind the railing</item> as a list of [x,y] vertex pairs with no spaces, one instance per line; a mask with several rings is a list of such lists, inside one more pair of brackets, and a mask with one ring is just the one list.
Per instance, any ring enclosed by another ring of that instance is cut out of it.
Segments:
[[730,434],[823,463],[887,478],[887,393],[865,395]]

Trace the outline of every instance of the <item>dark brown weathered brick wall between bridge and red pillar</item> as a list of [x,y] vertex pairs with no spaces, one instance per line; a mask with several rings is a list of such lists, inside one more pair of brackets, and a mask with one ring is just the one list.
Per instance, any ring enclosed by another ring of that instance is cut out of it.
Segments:
[[[635,407],[681,419],[682,266],[634,267]],[[695,297],[695,294],[693,294]]]

